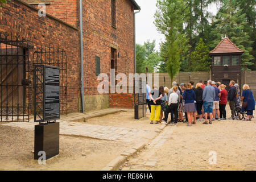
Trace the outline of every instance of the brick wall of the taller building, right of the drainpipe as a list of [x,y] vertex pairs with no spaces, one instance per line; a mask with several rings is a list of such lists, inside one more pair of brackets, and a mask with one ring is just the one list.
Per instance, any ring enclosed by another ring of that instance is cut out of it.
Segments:
[[[84,73],[85,94],[97,95],[96,56],[101,58],[101,73],[108,73],[111,68],[111,48],[117,49],[121,57],[116,57],[117,74],[134,72],[134,16],[133,6],[128,0],[118,0],[117,28],[112,27],[111,1],[83,1],[84,19]],[[120,96],[120,97],[118,97]],[[85,96],[86,100],[86,96]],[[122,102],[117,102],[122,100]],[[111,107],[130,107],[130,97],[110,94]],[[123,104],[122,104],[123,103]]]

